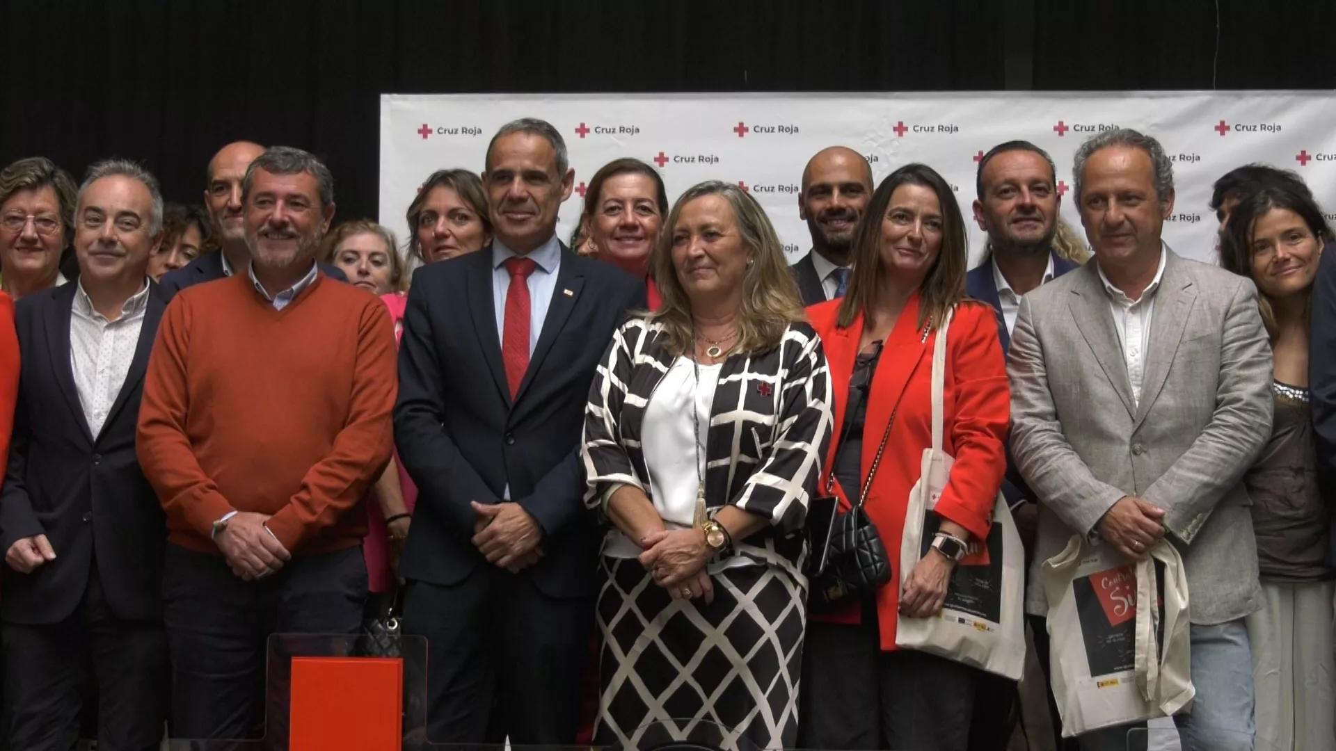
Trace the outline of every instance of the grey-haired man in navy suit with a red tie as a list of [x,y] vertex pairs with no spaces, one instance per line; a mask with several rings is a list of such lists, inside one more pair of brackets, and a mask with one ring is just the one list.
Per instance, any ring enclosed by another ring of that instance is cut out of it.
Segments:
[[418,486],[399,563],[428,639],[428,739],[569,746],[599,528],[578,465],[595,369],[645,285],[556,235],[574,171],[542,120],[504,126],[482,184],[494,241],[418,269],[394,440]]

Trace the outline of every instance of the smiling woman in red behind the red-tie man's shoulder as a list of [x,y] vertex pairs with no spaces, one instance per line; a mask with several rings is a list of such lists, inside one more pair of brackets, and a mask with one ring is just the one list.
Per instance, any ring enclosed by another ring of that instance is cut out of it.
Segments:
[[615,159],[589,179],[576,233],[582,238],[582,255],[645,281],[649,310],[659,309],[659,289],[649,278],[649,251],[667,215],[668,192],[659,172],[640,159]]

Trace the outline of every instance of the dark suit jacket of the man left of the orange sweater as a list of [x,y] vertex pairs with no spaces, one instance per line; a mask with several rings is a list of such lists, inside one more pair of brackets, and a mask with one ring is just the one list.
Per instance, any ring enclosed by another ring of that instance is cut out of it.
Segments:
[[0,613],[8,623],[59,623],[83,600],[96,565],[116,617],[160,620],[167,522],[139,469],[135,429],[167,297],[150,282],[130,370],[102,433],[92,436],[69,363],[76,287],[68,282],[24,295],[15,306],[23,365],[0,490],[0,545],[8,551],[16,540],[45,535],[56,560],[32,573],[3,567]]

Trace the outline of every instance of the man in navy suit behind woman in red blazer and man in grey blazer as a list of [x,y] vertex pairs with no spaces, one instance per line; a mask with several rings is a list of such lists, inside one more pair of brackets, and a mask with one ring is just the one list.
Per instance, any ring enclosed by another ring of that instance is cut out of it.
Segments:
[[[1058,255],[1053,246],[1062,203],[1055,183],[1053,159],[1033,143],[1007,142],[993,147],[979,160],[974,220],[989,234],[989,246],[983,263],[966,274],[965,287],[970,297],[987,302],[997,311],[998,339],[1003,353],[1011,343],[1011,327],[1021,309],[1021,298],[1078,266]],[[1010,461],[1010,452],[1002,494],[1029,547],[1034,540],[1038,506],[1034,505],[1030,488]],[[1035,637],[1045,643],[1039,660],[1046,665],[1047,633],[1035,633]],[[1007,747],[1017,722],[1015,698],[1014,682],[999,676],[979,682],[970,724],[970,751],[1001,751]],[[1057,736],[1062,726],[1057,723],[1055,710],[1050,695]],[[1062,748],[1061,736],[1057,743]]]

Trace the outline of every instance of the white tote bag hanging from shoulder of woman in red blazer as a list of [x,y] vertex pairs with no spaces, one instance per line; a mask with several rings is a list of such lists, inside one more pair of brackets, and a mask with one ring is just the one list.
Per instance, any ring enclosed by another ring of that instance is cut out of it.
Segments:
[[[933,448],[925,449],[919,481],[910,490],[900,540],[900,592],[933,545],[941,521],[933,513],[951,476],[954,458],[942,449],[942,392],[951,311],[933,346]],[[947,585],[938,615],[899,616],[895,645],[929,652],[1011,680],[1025,668],[1025,551],[1006,498],[998,493],[989,539],[971,545]]]

